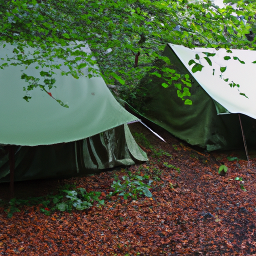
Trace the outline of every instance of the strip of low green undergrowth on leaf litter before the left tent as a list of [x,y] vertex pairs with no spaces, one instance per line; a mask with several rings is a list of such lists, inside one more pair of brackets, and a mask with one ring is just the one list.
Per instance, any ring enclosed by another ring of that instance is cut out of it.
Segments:
[[[40,212],[50,215],[54,211],[86,210],[92,206],[101,207],[105,200],[110,201],[111,196],[116,195],[123,199],[137,200],[138,197],[151,197],[149,191],[152,180],[148,175],[133,175],[127,171],[121,180],[114,175],[111,184],[112,191],[105,194],[101,191],[87,192],[83,187],[76,187],[75,184],[61,186],[56,194],[49,194],[40,197],[30,197],[28,199],[12,198],[7,204],[5,203],[4,211],[7,217],[12,217],[13,213],[19,212],[22,206],[39,206]],[[104,197],[104,199],[103,199]]]

